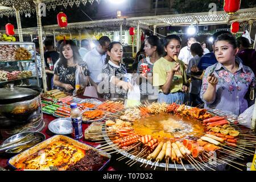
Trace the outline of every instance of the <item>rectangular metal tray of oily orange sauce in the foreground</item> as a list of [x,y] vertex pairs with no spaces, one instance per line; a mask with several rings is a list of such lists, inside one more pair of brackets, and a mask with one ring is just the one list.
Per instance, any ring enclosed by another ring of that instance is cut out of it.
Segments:
[[44,142],[9,159],[14,169],[46,170],[56,167],[59,171],[102,170],[111,156],[92,146],[64,135],[55,135]]

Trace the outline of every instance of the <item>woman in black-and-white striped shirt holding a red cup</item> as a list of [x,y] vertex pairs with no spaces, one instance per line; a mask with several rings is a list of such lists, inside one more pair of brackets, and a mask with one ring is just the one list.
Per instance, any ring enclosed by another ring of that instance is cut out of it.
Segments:
[[[154,63],[163,55],[163,46],[158,36],[151,35],[145,40],[144,51],[147,55],[146,59],[139,60],[137,73],[139,74],[139,88],[141,90],[141,101],[157,102],[158,88],[152,86],[152,74]],[[148,65],[148,70],[143,73],[142,64]]]

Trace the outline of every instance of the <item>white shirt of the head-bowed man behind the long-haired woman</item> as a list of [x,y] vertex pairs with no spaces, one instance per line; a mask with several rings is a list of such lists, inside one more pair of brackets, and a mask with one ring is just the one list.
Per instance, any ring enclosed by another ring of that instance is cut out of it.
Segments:
[[101,71],[105,65],[105,59],[106,59],[106,55],[101,55],[100,53],[98,53],[96,48],[86,53],[86,55],[82,59],[87,63],[90,71],[90,77],[96,83],[102,81]]

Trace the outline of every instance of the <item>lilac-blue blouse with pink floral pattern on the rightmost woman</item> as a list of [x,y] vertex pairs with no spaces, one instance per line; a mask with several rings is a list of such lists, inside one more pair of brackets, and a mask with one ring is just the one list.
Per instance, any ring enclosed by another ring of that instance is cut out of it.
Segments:
[[[233,74],[228,71],[221,63],[216,63],[205,70],[203,84],[201,86],[200,97],[205,102],[206,109],[216,107],[216,109],[229,111],[239,115],[248,107],[246,94],[255,87],[255,76],[249,67],[243,65],[240,61],[238,70]],[[213,71],[214,69],[214,71]],[[207,77],[213,71],[214,76],[218,78],[216,85],[216,98],[212,102],[203,99],[203,95],[208,87]]]

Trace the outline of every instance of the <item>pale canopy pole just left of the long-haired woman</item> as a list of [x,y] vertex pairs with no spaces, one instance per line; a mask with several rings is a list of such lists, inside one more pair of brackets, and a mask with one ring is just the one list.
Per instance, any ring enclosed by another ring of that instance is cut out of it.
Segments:
[[42,32],[42,22],[41,22],[41,11],[40,11],[40,0],[34,0],[36,5],[36,18],[38,20],[38,35],[39,35],[39,47],[40,47],[40,56],[41,56],[41,65],[42,65],[42,80],[43,80],[43,89],[44,92],[47,91],[46,84],[46,66],[44,64],[44,49],[43,49],[43,32]]

